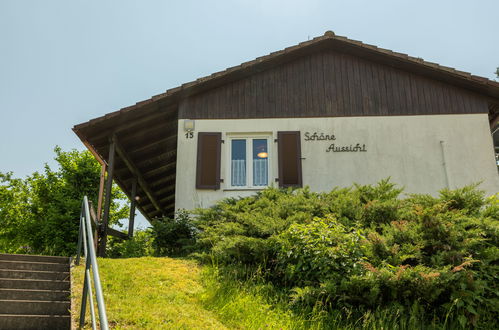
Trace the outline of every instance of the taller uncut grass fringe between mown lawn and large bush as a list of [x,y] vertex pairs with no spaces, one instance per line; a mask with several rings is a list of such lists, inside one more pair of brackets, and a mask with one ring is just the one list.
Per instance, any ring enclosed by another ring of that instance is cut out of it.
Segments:
[[[244,275],[243,275],[244,274]],[[444,330],[462,328],[456,320],[436,321],[414,303],[410,309],[393,305],[375,310],[331,309],[293,304],[289,292],[265,281],[261,270],[248,275],[244,266],[205,266],[201,295],[204,307],[233,329],[394,329]]]

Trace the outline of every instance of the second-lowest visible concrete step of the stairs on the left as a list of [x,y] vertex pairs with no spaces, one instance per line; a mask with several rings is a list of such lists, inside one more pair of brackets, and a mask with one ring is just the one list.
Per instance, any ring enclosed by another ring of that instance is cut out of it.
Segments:
[[0,314],[69,315],[69,301],[0,300]]

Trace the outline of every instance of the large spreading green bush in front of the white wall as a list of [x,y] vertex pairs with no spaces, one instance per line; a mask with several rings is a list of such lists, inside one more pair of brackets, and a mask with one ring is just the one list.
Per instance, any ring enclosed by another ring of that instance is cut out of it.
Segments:
[[485,199],[476,186],[439,197],[401,192],[383,180],[227,199],[197,210],[196,249],[221,265],[262,270],[302,307],[417,304],[442,322],[497,325],[498,196]]

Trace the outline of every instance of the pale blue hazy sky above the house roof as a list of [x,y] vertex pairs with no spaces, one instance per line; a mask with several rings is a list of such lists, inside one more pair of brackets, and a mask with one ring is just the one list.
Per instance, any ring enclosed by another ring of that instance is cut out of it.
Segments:
[[75,124],[332,30],[495,79],[499,1],[0,0],[0,171],[83,149]]

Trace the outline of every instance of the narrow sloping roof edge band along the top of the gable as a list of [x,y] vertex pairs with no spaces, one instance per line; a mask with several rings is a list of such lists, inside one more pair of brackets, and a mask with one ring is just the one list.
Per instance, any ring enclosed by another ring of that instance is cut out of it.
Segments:
[[[95,118],[87,123],[76,125],[79,129],[105,120],[118,113],[126,113],[135,109],[157,102],[159,100],[168,100],[172,103],[177,102],[183,97],[200,93],[202,91],[226,84],[235,79],[241,79],[255,72],[266,70],[275,65],[292,61],[303,55],[315,52],[317,50],[331,49],[340,52],[351,53],[359,57],[368,58],[373,61],[379,61],[403,70],[416,72],[431,78],[441,80],[453,85],[470,89],[477,93],[499,99],[499,82],[485,77],[473,75],[469,72],[456,70],[451,67],[439,65],[437,63],[425,61],[419,57],[409,56],[389,49],[379,48],[374,45],[365,44],[361,41],[337,36],[332,31],[326,31],[323,36],[313,38],[298,45],[287,47],[258,57],[254,60],[244,62],[240,65],[227,68],[223,71],[215,72],[209,76],[198,78],[194,81],[184,83],[178,87],[166,90],[164,93],[155,95],[150,99],[137,102],[136,104],[122,108],[119,111],[109,113],[105,116]],[[170,103],[168,102],[168,103]]]

